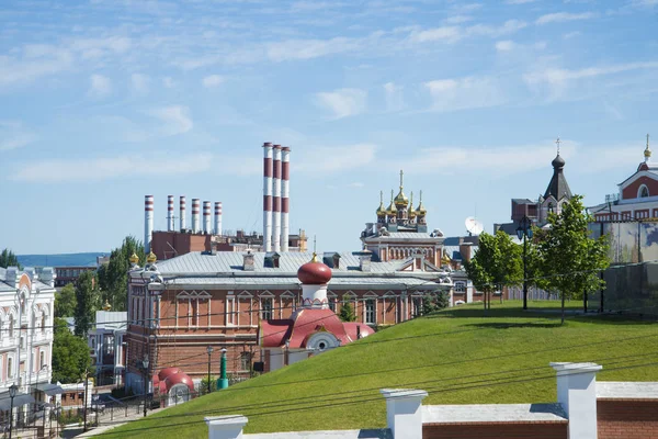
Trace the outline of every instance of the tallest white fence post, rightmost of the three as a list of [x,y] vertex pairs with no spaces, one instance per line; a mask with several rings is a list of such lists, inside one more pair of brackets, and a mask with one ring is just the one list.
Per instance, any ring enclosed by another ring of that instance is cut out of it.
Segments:
[[557,372],[557,402],[569,419],[569,439],[597,439],[597,363],[551,363]]

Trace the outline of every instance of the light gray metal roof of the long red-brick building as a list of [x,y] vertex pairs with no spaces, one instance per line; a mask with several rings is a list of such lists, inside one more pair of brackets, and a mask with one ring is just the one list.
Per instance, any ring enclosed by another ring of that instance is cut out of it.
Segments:
[[[157,262],[158,271],[162,274],[178,273],[230,273],[245,272],[242,264],[245,261],[243,252],[237,251],[217,251],[216,254],[205,251],[193,251],[181,255],[172,259]],[[279,268],[264,267],[264,252],[253,254],[254,273],[297,273],[299,267],[310,261],[311,252],[282,252],[279,258]],[[321,256],[320,256],[321,259]],[[371,272],[387,273],[394,272],[404,264],[404,260],[389,262],[372,262]],[[333,268],[333,272],[359,271],[359,256],[352,252],[340,254],[340,266]]]

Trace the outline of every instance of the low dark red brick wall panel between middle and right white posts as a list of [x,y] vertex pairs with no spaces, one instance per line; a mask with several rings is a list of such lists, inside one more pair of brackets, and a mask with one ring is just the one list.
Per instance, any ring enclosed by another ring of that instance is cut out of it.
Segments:
[[460,423],[423,425],[423,439],[567,439],[567,423]]

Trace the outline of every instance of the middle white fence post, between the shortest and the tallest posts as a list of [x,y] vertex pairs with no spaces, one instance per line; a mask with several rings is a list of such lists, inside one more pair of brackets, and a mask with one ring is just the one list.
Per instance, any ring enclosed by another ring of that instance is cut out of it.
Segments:
[[421,402],[426,391],[412,389],[382,389],[386,398],[386,424],[393,439],[422,439]]

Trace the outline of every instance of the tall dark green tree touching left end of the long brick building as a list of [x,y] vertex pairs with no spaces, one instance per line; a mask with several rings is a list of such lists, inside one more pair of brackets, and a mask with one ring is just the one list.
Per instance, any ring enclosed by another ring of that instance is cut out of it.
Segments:
[[102,303],[107,301],[114,311],[126,311],[128,297],[128,270],[131,256],[137,255],[139,264],[144,266],[146,257],[144,245],[133,236],[127,236],[122,246],[110,254],[110,262],[99,267],[99,285]]

